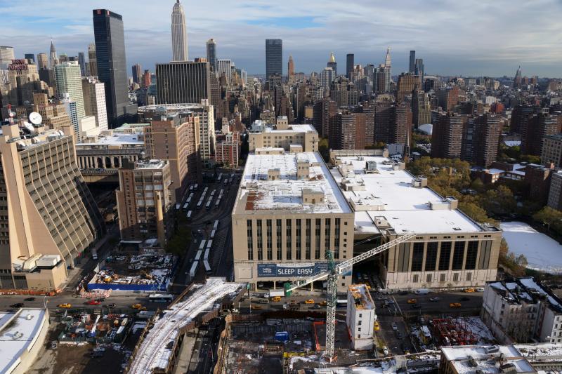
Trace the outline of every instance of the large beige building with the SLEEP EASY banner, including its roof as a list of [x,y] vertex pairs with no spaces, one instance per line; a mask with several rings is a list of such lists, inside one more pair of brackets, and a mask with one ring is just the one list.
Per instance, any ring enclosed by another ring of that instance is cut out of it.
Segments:
[[[318,152],[249,154],[232,225],[235,281],[254,288],[327,269],[327,250],[336,262],[353,252],[353,211]],[[351,273],[338,289],[349,284]]]

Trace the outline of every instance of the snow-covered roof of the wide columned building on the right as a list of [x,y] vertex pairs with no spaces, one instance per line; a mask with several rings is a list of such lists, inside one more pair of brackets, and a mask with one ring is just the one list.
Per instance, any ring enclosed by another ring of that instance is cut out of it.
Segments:
[[[443,196],[433,190],[412,187],[414,175],[405,170],[395,170],[390,159],[384,156],[341,156],[342,166],[348,168],[346,176],[339,168],[332,168],[334,179],[341,184],[346,179],[357,189],[342,190],[347,201],[380,201],[374,206],[362,206],[362,212],[355,209],[355,232],[376,232],[376,217],[384,217],[397,234],[481,232],[483,228],[458,209],[432,208],[445,206]],[[376,173],[365,173],[367,161],[376,163]],[[364,188],[363,188],[364,186]],[[360,199],[357,199],[360,198]]]

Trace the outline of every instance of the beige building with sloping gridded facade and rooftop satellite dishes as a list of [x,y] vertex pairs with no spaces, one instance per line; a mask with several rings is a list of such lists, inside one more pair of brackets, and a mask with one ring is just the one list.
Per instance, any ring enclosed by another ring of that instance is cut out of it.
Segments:
[[76,164],[73,130],[2,126],[0,287],[53,290],[103,221]]

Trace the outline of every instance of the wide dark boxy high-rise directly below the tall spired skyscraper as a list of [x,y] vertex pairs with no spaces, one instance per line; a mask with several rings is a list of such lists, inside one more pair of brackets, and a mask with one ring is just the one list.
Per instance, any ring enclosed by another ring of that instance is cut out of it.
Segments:
[[156,64],[157,104],[211,100],[209,62],[172,61]]

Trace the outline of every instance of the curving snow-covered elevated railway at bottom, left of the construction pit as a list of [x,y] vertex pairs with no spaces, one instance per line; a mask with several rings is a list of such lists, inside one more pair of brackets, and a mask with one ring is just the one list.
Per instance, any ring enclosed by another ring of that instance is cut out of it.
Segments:
[[[195,292],[178,302],[155,321],[148,335],[138,347],[129,373],[152,373],[155,368],[166,368],[180,328],[202,312],[214,309],[214,304],[226,295],[237,293],[242,284],[227,283],[221,278],[209,278],[203,285],[194,286]],[[170,344],[172,343],[172,344]]]

